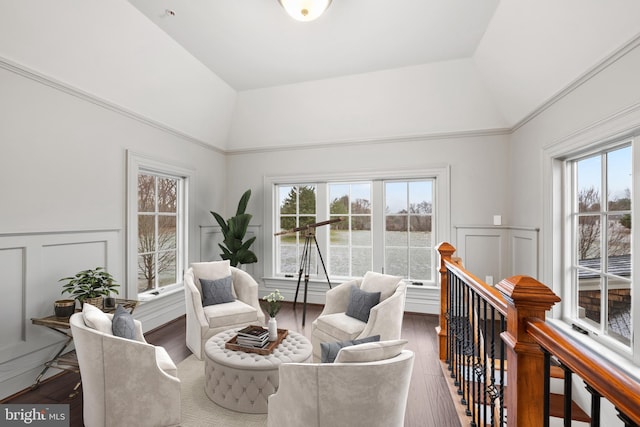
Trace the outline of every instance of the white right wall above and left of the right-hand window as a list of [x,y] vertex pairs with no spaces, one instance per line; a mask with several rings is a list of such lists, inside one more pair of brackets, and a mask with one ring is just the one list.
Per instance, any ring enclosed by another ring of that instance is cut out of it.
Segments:
[[[608,120],[625,110],[638,107],[639,44],[640,41],[637,41],[636,47],[624,52],[609,66],[514,132],[510,143],[510,160],[518,167],[511,170],[509,179],[513,189],[511,211],[517,223],[540,228],[544,226],[542,201],[548,197],[543,191],[545,179],[548,178],[544,176],[545,147],[594,126],[607,129]],[[541,251],[545,247],[545,234],[545,230],[542,230]],[[546,263],[549,262],[547,259]],[[544,266],[542,270],[545,270]],[[543,277],[543,280],[549,280],[549,277]]]

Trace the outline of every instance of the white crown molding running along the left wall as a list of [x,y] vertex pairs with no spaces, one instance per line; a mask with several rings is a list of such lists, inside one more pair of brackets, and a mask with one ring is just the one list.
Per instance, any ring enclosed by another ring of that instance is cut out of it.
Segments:
[[188,141],[192,144],[196,144],[200,147],[206,148],[208,150],[213,150],[216,151],[218,153],[224,154],[224,150],[218,148],[218,147],[214,147],[211,144],[206,143],[205,141],[196,138],[194,136],[191,136],[189,134],[186,134],[184,132],[181,132],[177,129],[174,129],[171,126],[168,126],[164,123],[161,123],[157,120],[151,119],[149,117],[146,117],[142,114],[136,113],[134,111],[131,111],[121,105],[118,105],[114,102],[111,101],[107,101],[103,98],[100,98],[94,94],[85,92],[75,86],[72,86],[68,83],[64,83],[61,82],[59,80],[54,79],[53,77],[50,76],[46,76],[38,71],[32,70],[28,67],[26,67],[23,64],[19,64],[17,62],[11,61],[7,58],[4,58],[2,56],[0,56],[0,68],[3,68],[7,71],[10,71],[14,74],[18,74],[22,77],[26,77],[30,80],[33,80],[35,82],[38,82],[40,84],[43,84],[45,86],[48,86],[50,88],[56,89],[60,92],[64,92],[68,95],[71,96],[75,96],[76,98],[79,98],[83,101],[86,102],[90,102],[94,105],[97,105],[99,107],[102,107],[104,109],[107,109],[109,111],[118,113],[120,115],[123,115],[127,118],[136,120],[142,124],[145,124],[147,126],[151,126],[153,128],[159,129],[163,132],[169,133],[171,135],[174,135],[180,139],[183,139],[185,141]]

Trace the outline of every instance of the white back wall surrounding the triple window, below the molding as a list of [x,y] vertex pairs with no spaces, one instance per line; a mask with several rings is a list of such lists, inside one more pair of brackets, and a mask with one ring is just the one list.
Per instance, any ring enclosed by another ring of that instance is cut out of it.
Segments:
[[[365,132],[366,129],[360,129]],[[336,134],[340,129],[336,130]],[[228,157],[228,194],[230,204],[242,192],[252,190],[248,212],[254,214],[252,224],[267,232],[264,224],[265,176],[288,174],[329,174],[344,172],[380,172],[419,170],[434,165],[451,167],[451,219],[459,224],[491,224],[493,215],[501,214],[509,222],[508,193],[510,185],[505,179],[508,170],[508,135],[460,136],[451,139],[423,138],[412,141],[359,144],[335,144],[323,147],[236,152]],[[236,202],[237,203],[237,202]],[[258,236],[258,245],[267,240]],[[446,238],[451,242],[454,234],[449,230]],[[258,254],[260,261],[264,260]],[[264,274],[262,262],[255,268],[256,277]],[[296,281],[278,283],[283,294],[293,299]],[[324,303],[326,282],[319,283],[310,292],[309,300]],[[261,289],[264,291],[264,289]],[[435,312],[437,294],[433,289],[413,289],[407,297],[410,311]]]

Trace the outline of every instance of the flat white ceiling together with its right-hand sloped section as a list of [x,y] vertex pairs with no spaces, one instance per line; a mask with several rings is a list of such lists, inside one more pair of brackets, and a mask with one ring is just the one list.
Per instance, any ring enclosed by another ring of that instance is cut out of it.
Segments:
[[471,58],[507,126],[640,35],[637,0],[129,0],[242,92]]

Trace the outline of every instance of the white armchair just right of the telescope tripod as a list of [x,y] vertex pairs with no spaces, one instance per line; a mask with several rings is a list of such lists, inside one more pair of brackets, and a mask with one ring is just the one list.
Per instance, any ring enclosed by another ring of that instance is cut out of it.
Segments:
[[[367,322],[347,316],[351,288],[379,291],[380,302],[371,308]],[[399,339],[402,332],[407,286],[402,278],[367,272],[362,279],[344,282],[326,293],[322,313],[311,326],[313,361],[320,362],[320,343],[348,341],[380,335],[380,340]]]

